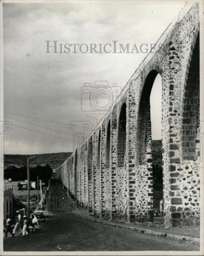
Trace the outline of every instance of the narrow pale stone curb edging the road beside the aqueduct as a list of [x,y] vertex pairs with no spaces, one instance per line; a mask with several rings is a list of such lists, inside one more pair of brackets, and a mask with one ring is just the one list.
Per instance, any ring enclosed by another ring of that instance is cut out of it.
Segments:
[[156,231],[156,230],[152,230],[152,229],[147,229],[147,228],[140,228],[140,227],[133,227],[133,226],[127,226],[127,225],[121,225],[121,224],[116,224],[116,223],[112,223],[112,222],[106,222],[103,220],[98,220],[98,219],[91,219],[91,218],[87,218],[83,215],[77,214],[75,212],[73,212],[73,214],[88,220],[88,221],[93,221],[93,222],[98,222],[98,223],[103,223],[109,226],[113,226],[113,227],[119,227],[119,228],[125,228],[125,229],[130,229],[130,230],[134,230],[140,233],[146,233],[146,234],[153,234],[154,236],[159,236],[159,237],[166,237],[166,238],[171,238],[171,239],[175,239],[175,240],[182,240],[182,241],[193,241],[195,243],[200,243],[200,239],[199,238],[192,238],[192,237],[187,237],[187,236],[181,236],[180,234],[171,234],[171,233],[166,233],[166,232],[160,232],[160,231]]

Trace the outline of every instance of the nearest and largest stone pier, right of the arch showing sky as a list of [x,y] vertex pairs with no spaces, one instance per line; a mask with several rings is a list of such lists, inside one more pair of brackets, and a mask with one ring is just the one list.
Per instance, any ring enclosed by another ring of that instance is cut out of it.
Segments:
[[[189,15],[186,15],[182,22],[177,24],[169,42],[169,59],[171,63],[169,65],[170,138],[168,161],[170,163],[170,177],[168,184],[170,183],[169,209],[171,215],[165,215],[166,225],[196,224],[199,219],[199,202],[195,202],[194,200],[194,202],[191,202],[192,199],[199,201],[198,161],[195,159],[193,163],[191,159],[185,160],[183,154],[183,124],[186,122],[183,112],[183,109],[185,109],[183,102],[185,102],[188,94],[186,91],[186,79],[188,77],[189,64],[191,65],[189,63],[189,57],[195,45],[198,29],[198,8],[195,5],[189,12]],[[194,75],[198,74],[194,73]],[[196,91],[196,83],[194,86]],[[197,100],[197,97],[194,97],[194,100]],[[192,108],[194,108],[194,104],[192,104]],[[192,122],[192,119],[189,119],[189,121]],[[195,186],[193,186],[194,182]],[[164,189],[164,193],[167,194],[166,188]]]

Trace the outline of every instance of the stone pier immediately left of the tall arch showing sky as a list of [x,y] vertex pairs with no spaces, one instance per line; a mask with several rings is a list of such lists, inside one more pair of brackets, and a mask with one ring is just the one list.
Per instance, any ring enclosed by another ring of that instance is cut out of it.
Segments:
[[[130,221],[135,219],[147,221],[152,217],[149,212],[152,206],[152,161],[148,94],[145,95],[145,98],[143,97],[143,100],[147,100],[147,102],[140,101],[141,87],[149,71],[132,80],[129,92]],[[147,86],[149,88],[150,84],[147,84]]]

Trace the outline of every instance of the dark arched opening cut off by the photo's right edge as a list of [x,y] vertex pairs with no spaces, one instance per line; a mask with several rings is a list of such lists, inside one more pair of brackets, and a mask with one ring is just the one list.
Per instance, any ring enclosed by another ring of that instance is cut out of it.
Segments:
[[199,34],[193,49],[183,100],[183,159],[199,156]]

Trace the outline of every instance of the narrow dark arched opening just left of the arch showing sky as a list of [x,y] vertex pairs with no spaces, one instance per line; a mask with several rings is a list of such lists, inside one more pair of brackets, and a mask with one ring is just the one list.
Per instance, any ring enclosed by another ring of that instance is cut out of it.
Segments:
[[124,166],[126,149],[126,104],[122,104],[118,123],[118,145],[117,145],[117,162],[118,167]]

